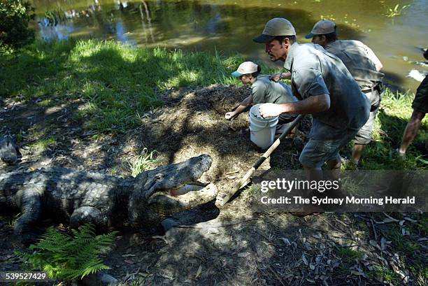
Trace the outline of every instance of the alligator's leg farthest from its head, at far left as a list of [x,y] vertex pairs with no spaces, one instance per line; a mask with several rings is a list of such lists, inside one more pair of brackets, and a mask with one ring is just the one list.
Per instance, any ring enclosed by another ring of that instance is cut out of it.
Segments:
[[16,238],[22,243],[34,241],[34,224],[41,217],[41,198],[40,193],[34,188],[22,191],[21,216],[17,219],[14,227]]

